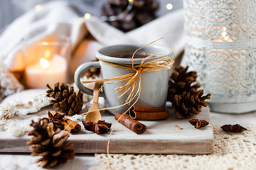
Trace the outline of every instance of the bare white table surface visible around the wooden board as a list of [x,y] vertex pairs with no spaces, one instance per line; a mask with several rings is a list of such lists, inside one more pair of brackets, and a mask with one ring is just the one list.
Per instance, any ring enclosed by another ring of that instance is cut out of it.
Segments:
[[[242,126],[256,125],[256,112],[245,113],[240,115],[210,113],[213,125],[240,124]],[[0,154],[0,170],[1,169],[41,169],[38,164],[34,163],[38,157],[31,157],[28,154]],[[68,161],[67,164],[58,166],[55,169],[89,169],[97,164],[94,154],[78,154],[74,160]]]

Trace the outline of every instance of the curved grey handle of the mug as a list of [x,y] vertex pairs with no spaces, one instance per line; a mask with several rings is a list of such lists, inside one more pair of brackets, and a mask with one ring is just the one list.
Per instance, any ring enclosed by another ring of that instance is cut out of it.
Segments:
[[[82,73],[85,72],[86,69],[90,69],[90,68],[100,68],[100,62],[85,62],[84,64],[81,64],[78,67],[78,69],[75,70],[74,80],[75,80],[75,85],[78,86],[78,89],[80,89],[80,91],[84,92],[85,94],[89,94],[93,96],[93,90],[88,89],[87,87],[82,85],[80,80]],[[100,91],[100,96],[101,97],[104,96],[102,91]]]

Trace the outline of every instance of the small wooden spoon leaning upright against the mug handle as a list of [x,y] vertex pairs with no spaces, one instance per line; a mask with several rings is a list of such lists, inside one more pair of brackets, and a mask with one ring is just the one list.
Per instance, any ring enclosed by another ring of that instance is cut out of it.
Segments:
[[101,87],[101,82],[95,82],[95,86],[93,89],[93,103],[88,111],[89,113],[85,115],[85,121],[92,121],[97,123],[98,120],[102,119],[99,111],[99,102],[98,102],[99,96],[100,96],[100,91],[99,91],[100,87]]

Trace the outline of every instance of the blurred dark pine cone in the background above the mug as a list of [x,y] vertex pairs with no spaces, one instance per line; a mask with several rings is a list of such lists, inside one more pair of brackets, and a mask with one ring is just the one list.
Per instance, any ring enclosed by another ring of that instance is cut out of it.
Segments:
[[[128,0],[108,0],[102,6],[102,16],[118,16],[127,9]],[[124,32],[133,30],[156,18],[156,10],[159,8],[157,0],[134,0],[132,9],[124,17],[115,21],[107,21],[111,26]]]

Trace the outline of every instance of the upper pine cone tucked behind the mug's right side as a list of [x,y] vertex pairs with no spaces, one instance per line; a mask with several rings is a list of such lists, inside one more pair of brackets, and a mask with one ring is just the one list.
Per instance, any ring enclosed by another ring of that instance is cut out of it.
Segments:
[[171,74],[169,79],[167,101],[174,101],[174,96],[176,94],[181,95],[184,91],[188,92],[191,91],[191,89],[198,89],[201,87],[201,84],[199,83],[191,86],[191,84],[196,82],[197,73],[187,72],[188,66],[186,68],[178,66],[175,67],[175,70],[176,72]]

